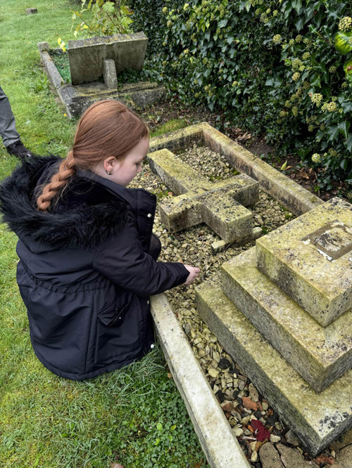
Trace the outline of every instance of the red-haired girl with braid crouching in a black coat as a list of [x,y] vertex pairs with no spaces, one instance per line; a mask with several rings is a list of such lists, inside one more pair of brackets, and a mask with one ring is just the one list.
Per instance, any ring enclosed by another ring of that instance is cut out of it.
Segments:
[[94,103],[73,149],[32,157],[0,186],[18,235],[17,282],[41,362],[68,379],[120,368],[153,347],[149,296],[199,268],[156,262],[156,196],[126,188],[142,170],[149,129],[115,100]]

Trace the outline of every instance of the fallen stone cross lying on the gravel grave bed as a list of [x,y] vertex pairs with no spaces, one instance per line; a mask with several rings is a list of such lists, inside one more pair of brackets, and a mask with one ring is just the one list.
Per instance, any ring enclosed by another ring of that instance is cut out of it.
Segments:
[[258,201],[258,182],[241,174],[210,182],[169,150],[149,153],[149,166],[177,196],[159,204],[171,232],[206,223],[225,242],[250,236],[253,215],[245,206]]

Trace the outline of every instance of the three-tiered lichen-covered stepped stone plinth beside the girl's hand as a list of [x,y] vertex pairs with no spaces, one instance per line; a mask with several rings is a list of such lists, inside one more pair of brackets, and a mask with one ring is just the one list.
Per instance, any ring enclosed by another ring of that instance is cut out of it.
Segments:
[[352,424],[352,205],[334,198],[196,290],[199,313],[310,455]]

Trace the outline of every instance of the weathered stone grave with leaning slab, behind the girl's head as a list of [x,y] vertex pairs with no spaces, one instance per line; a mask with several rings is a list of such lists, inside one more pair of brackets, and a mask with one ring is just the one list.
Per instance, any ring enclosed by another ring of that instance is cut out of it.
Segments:
[[[156,83],[118,84],[118,72],[142,70],[147,42],[143,32],[68,41],[72,84],[63,82],[49,54],[49,44],[39,42],[38,48],[68,117],[80,117],[96,100],[116,99],[132,107],[145,107],[165,94],[165,88]],[[62,53],[61,48],[55,50]]]

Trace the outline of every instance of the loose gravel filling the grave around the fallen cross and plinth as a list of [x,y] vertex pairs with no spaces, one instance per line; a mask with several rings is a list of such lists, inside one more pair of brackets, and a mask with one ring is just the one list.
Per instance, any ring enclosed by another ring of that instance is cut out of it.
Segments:
[[[177,157],[187,162],[189,166],[196,169],[199,174],[207,177],[210,181],[230,178],[238,174],[225,160],[225,157],[211,151],[209,148],[193,145],[188,150],[178,153]],[[134,178],[129,187],[144,188],[156,194],[158,202],[165,200],[165,197],[174,195],[161,179],[151,172],[148,162],[144,162],[142,172]],[[249,209],[253,211],[253,227],[260,226],[264,234],[282,226],[282,224],[295,217],[294,214],[291,214],[276,200],[272,199],[270,195],[261,190],[259,201]],[[201,268],[201,274],[194,284],[177,286],[165,294],[170,301],[172,310],[180,320],[184,332],[187,334],[194,354],[201,364],[213,393],[218,398],[222,410],[225,412],[225,416],[252,466],[256,468],[263,467],[258,455],[263,442],[257,440],[255,427],[257,427],[258,423],[253,424],[253,420],[260,420],[265,429],[270,432],[270,443],[281,442],[296,447],[296,450],[303,454],[306,460],[312,460],[299,447],[296,436],[285,427],[284,423],[270,407],[270,403],[258,393],[255,386],[246,377],[246,374],[222,349],[218,339],[210,331],[206,323],[201,320],[197,312],[194,288],[200,282],[214,279],[224,261],[230,260],[233,256],[253,247],[255,241],[253,240],[242,247],[230,246],[223,252],[213,255],[211,253],[211,244],[216,240],[220,240],[220,238],[206,224],[202,223],[178,233],[170,233],[161,223],[158,210],[154,220],[153,232],[158,235],[163,245],[159,257],[160,261],[182,261],[184,264]],[[325,462],[320,463],[317,459],[314,459],[314,461],[320,467],[329,466],[334,462],[334,455],[334,450],[327,449],[321,455],[324,457]]]

